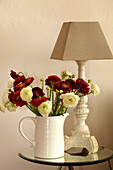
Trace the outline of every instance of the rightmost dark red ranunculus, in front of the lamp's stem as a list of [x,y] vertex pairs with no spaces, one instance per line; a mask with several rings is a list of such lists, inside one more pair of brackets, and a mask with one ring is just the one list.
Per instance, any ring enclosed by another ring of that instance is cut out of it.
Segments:
[[75,84],[75,89],[77,90],[78,89],[78,92],[79,93],[82,93],[82,94],[88,94],[89,93],[89,84],[84,81],[82,78],[78,78],[76,80],[76,84]]

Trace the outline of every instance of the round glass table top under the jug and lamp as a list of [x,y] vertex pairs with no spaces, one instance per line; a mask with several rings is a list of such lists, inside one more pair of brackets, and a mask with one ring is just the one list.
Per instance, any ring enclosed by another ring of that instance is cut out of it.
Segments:
[[97,164],[101,162],[113,159],[113,151],[107,148],[102,148],[97,153],[89,154],[87,156],[72,156],[68,153],[64,154],[64,157],[57,159],[42,159],[34,157],[33,147],[24,149],[18,154],[21,158],[31,161],[34,163],[45,164],[45,165],[56,165],[56,166],[66,166],[66,165],[90,165]]

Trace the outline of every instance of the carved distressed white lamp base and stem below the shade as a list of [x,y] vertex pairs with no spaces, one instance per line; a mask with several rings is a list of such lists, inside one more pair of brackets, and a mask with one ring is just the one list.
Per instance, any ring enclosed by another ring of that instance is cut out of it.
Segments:
[[[85,62],[86,61],[77,61],[78,77],[83,78],[84,80]],[[88,149],[89,153],[96,153],[98,151],[98,142],[94,136],[90,135],[89,127],[85,123],[89,114],[89,109],[86,104],[87,101],[87,96],[82,97],[74,110],[77,124],[71,132],[71,136],[65,136],[65,150],[70,147],[85,147]]]

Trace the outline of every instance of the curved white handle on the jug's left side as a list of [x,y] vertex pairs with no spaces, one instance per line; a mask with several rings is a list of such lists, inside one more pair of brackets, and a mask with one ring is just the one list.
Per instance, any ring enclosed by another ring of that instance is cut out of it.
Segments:
[[36,123],[36,118],[34,117],[27,116],[27,117],[22,118],[19,122],[19,132],[27,141],[29,141],[33,145],[33,147],[35,147],[35,140],[29,139],[23,132],[23,123],[25,120],[29,120],[29,119],[32,120],[34,123]]

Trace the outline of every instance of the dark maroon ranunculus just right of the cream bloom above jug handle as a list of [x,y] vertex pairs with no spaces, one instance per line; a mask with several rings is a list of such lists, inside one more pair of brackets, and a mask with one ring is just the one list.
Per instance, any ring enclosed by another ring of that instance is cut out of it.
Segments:
[[32,88],[32,92],[33,92],[33,97],[32,97],[33,99],[37,99],[39,98],[39,96],[43,97],[45,95],[40,87]]

